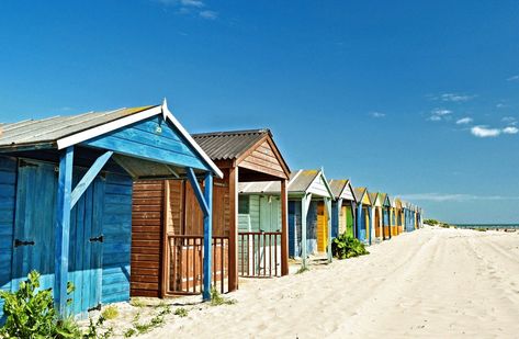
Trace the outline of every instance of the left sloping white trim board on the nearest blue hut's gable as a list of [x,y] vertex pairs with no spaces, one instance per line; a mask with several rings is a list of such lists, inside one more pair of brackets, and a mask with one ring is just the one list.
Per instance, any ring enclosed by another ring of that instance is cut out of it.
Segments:
[[64,148],[67,148],[69,146],[89,140],[89,139],[94,138],[97,136],[110,133],[110,132],[119,129],[121,127],[131,125],[131,124],[139,122],[142,120],[151,117],[154,115],[157,115],[159,113],[162,113],[162,109],[161,109],[161,106],[156,106],[156,108],[148,109],[146,111],[143,111],[143,112],[139,112],[139,113],[136,113],[136,114],[125,116],[123,118],[115,120],[113,122],[110,122],[108,124],[104,124],[104,125],[101,125],[101,126],[98,126],[98,127],[93,127],[93,128],[90,128],[90,129],[87,129],[87,131],[83,131],[83,132],[79,132],[77,134],[72,134],[70,136],[58,139],[58,142],[57,142],[58,143],[58,149],[64,149]]

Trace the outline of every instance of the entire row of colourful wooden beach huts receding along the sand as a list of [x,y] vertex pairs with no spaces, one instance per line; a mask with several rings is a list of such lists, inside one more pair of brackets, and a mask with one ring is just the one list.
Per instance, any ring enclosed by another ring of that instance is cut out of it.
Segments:
[[398,197],[291,170],[269,129],[190,135],[166,101],[0,131],[0,289],[37,270],[60,314],[207,300],[289,274],[289,258],[331,261],[339,234],[372,245],[422,226]]

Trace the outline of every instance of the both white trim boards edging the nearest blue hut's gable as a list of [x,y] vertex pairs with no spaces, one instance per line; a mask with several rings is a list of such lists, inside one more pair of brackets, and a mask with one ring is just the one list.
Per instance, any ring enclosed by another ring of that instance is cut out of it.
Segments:
[[219,170],[219,168],[216,167],[216,165],[211,160],[211,158],[203,151],[203,149],[196,144],[196,142],[191,137],[191,135],[185,131],[185,128],[179,123],[179,121],[171,114],[171,112],[168,110],[168,104],[166,102],[166,99],[160,106],[155,106],[148,110],[145,110],[143,112],[136,113],[136,114],[131,114],[128,116],[119,118],[116,121],[106,123],[104,125],[93,127],[67,137],[64,137],[61,139],[57,140],[58,149],[64,149],[69,146],[89,140],[91,138],[94,138],[97,136],[110,133],[112,131],[119,129],[121,127],[137,123],[139,121],[143,121],[145,118],[151,117],[157,114],[162,114],[163,116],[167,116],[169,121],[179,129],[180,134],[188,140],[188,143],[191,144],[191,146],[194,147],[196,152],[204,159],[204,161],[211,167],[212,171],[218,177],[219,179],[224,178],[224,173]]

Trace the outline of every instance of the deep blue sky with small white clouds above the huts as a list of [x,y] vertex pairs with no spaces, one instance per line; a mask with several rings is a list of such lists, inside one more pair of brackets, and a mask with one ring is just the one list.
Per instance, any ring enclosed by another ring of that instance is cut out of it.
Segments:
[[292,169],[519,222],[517,1],[1,1],[0,122],[160,103]]

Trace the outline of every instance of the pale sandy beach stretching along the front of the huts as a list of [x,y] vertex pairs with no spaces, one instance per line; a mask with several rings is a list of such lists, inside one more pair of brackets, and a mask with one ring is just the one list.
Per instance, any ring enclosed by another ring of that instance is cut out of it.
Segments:
[[519,338],[519,233],[429,228],[370,256],[246,280],[148,338]]

